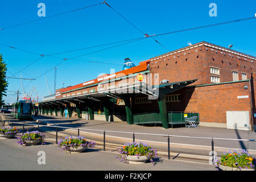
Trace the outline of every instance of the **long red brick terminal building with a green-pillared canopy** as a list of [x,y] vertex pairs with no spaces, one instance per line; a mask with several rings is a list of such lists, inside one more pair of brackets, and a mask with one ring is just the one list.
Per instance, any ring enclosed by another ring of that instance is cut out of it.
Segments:
[[[167,129],[195,118],[199,126],[256,127],[256,57],[200,42],[122,71],[60,88],[38,102],[39,114]],[[95,73],[97,75],[97,73]]]

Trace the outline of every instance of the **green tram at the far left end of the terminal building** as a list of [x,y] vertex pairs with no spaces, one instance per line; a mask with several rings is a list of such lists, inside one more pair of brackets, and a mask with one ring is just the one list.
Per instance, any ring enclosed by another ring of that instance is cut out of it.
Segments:
[[21,100],[12,105],[13,117],[16,119],[33,119],[33,104],[30,100]]

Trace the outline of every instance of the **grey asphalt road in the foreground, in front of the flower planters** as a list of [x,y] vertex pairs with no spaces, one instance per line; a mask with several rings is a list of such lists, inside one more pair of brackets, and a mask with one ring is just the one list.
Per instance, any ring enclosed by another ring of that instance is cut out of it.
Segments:
[[[39,151],[44,151],[46,164],[38,164]],[[117,154],[89,149],[86,152],[69,154],[61,151],[57,144],[46,143],[37,146],[20,146],[17,139],[0,138],[1,171],[215,171],[210,164],[190,163],[160,159],[153,166],[146,164],[125,164],[115,159]]]

